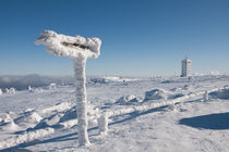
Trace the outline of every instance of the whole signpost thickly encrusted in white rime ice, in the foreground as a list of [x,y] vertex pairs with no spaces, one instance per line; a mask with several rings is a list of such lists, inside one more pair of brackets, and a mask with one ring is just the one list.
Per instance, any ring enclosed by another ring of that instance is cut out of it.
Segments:
[[85,66],[87,59],[96,59],[100,54],[101,40],[99,38],[83,38],[81,36],[64,36],[52,30],[44,30],[36,45],[47,46],[47,51],[58,56],[69,56],[74,62],[76,79],[76,113],[79,127],[79,143],[89,143],[87,135],[87,94]]

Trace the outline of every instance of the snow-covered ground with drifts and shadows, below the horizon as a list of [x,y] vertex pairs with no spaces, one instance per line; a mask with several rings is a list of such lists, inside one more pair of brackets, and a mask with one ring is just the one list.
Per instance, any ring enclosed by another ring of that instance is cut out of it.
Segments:
[[[229,85],[229,76],[87,80],[89,147],[79,147],[75,86],[57,85],[0,94],[0,151],[227,152],[229,90],[148,111],[109,117],[99,135],[97,117]],[[33,86],[32,86],[33,87]]]

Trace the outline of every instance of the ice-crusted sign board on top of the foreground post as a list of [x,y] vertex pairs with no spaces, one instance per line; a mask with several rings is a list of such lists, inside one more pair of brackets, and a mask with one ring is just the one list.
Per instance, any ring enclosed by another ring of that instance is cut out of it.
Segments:
[[81,36],[64,36],[52,30],[44,30],[36,45],[44,43],[47,51],[58,56],[96,59],[100,54],[101,41],[99,38],[83,38]]

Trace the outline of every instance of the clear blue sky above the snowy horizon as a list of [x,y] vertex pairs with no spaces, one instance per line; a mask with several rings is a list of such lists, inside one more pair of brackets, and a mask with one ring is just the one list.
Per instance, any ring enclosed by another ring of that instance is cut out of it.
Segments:
[[72,75],[72,61],[34,41],[41,30],[99,37],[87,75],[229,72],[228,0],[0,0],[0,75]]

